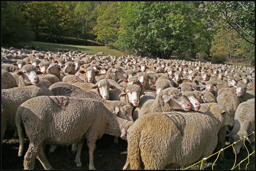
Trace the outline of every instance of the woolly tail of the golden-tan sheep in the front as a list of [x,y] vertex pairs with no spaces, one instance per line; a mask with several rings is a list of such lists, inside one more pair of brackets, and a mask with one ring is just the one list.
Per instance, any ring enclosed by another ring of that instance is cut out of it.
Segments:
[[140,170],[140,133],[131,136],[130,142],[128,141],[127,158],[130,159],[130,167],[132,170]]

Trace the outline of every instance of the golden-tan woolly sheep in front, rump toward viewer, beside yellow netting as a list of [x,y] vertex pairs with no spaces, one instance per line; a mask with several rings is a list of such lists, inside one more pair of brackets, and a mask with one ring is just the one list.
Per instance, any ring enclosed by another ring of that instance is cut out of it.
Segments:
[[[223,125],[233,125],[231,109],[213,106],[207,113],[148,113],[127,130],[127,160],[123,169],[164,169],[187,166],[212,154],[217,132]],[[204,122],[202,122],[204,121]],[[204,169],[204,163],[201,169]]]

